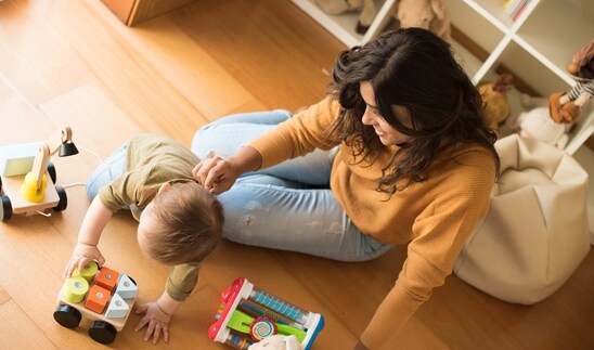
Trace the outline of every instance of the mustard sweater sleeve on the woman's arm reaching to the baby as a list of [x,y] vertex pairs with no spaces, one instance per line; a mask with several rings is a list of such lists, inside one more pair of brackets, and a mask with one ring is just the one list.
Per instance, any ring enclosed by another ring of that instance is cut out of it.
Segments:
[[339,143],[332,135],[332,125],[339,112],[338,102],[328,96],[281,122],[268,134],[253,141],[249,146],[261,154],[261,168],[304,156],[315,148],[331,150]]

